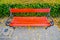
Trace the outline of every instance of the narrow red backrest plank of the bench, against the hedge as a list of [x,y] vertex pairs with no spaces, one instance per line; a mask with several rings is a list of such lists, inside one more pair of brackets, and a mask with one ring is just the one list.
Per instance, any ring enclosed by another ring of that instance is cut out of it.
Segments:
[[39,8],[39,9],[34,9],[34,8],[11,8],[10,9],[11,13],[18,13],[18,12],[41,12],[41,13],[49,13],[50,8]]

